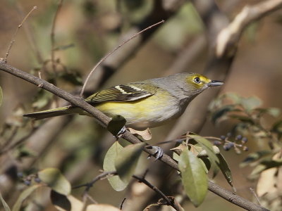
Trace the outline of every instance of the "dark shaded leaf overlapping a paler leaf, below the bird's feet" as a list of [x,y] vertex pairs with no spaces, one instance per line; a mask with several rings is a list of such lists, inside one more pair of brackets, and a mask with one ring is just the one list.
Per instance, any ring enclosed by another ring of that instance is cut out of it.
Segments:
[[128,183],[134,174],[138,158],[142,153],[145,143],[136,143],[122,149],[115,160],[116,172],[122,181]]

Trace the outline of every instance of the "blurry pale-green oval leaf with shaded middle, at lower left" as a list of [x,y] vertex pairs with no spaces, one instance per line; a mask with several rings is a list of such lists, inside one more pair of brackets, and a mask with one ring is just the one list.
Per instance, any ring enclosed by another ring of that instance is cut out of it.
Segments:
[[71,193],[71,184],[56,168],[47,168],[38,172],[38,177],[52,190],[65,196]]

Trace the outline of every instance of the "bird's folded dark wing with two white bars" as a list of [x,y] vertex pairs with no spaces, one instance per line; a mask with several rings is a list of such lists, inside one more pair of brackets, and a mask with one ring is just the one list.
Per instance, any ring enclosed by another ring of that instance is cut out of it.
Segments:
[[143,87],[147,87],[147,84],[138,84],[138,87],[135,84],[117,85],[98,91],[87,97],[85,101],[87,103],[136,101],[154,95],[157,90],[157,87],[153,87],[152,91],[145,91]]

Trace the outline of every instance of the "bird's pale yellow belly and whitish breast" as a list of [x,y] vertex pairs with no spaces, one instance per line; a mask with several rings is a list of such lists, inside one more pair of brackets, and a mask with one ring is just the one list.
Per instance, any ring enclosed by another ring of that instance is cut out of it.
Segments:
[[157,127],[183,113],[175,99],[168,98],[164,104],[159,102],[156,97],[152,96],[145,100],[131,102],[108,102],[95,107],[109,116],[122,115],[127,121],[127,127],[140,130],[147,129],[147,127]]

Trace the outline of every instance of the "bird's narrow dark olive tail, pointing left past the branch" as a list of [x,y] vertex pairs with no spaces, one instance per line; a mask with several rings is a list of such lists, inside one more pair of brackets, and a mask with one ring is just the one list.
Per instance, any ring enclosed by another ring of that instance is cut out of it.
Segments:
[[75,107],[63,106],[63,107],[60,107],[60,108],[54,108],[54,109],[50,109],[50,110],[42,110],[42,111],[35,112],[35,113],[27,113],[23,116],[24,117],[30,117],[30,118],[33,118],[35,120],[42,120],[42,119],[49,118],[49,117],[56,117],[56,116],[71,114],[71,113],[73,113],[73,109],[75,109]]

